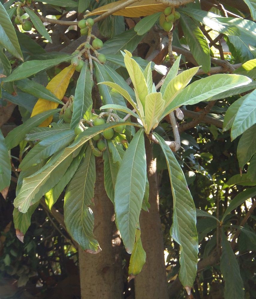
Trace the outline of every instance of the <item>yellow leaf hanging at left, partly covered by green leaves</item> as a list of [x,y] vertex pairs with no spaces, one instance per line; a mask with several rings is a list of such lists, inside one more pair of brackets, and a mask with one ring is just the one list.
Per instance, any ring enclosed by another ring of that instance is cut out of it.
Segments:
[[[51,91],[59,100],[62,100],[64,94],[67,90],[69,85],[70,78],[74,74],[75,68],[73,65],[64,68],[58,75],[56,75],[52,80],[48,83],[46,88]],[[51,102],[44,99],[38,99],[34,109],[32,111],[31,117],[37,115],[41,112],[55,109],[58,107],[58,103]],[[39,126],[40,127],[47,127],[52,121],[52,116],[46,118]]]

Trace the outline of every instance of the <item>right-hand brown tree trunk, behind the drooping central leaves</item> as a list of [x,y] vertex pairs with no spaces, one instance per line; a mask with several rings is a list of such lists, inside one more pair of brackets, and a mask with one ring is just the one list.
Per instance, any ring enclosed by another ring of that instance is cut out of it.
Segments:
[[149,181],[149,212],[141,211],[139,222],[141,242],[146,251],[146,263],[135,277],[136,299],[167,299],[164,242],[159,215],[156,159],[153,159],[152,144],[145,138],[147,155],[147,178]]

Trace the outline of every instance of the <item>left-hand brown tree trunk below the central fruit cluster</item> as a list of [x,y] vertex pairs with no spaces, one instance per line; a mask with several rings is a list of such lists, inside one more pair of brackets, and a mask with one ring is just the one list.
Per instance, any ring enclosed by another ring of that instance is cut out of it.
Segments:
[[[94,235],[102,251],[90,254],[79,248],[81,298],[123,298],[122,261],[119,257],[119,234],[115,227],[114,206],[104,188],[102,158],[96,158],[94,189]],[[113,236],[115,236],[113,240]]]

